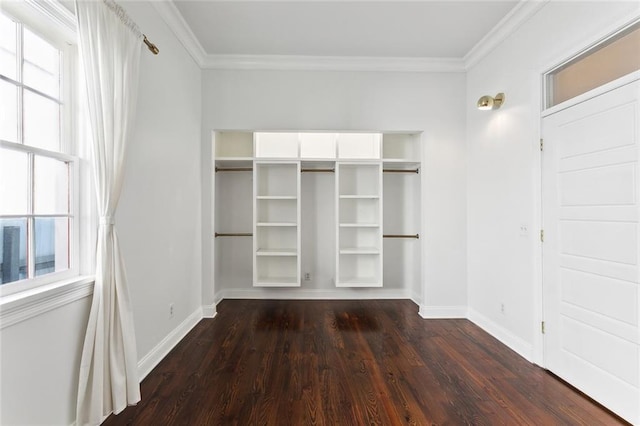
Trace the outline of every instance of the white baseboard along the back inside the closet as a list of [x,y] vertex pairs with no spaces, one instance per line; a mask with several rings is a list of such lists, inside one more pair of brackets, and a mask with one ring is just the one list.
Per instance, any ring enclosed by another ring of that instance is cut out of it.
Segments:
[[226,289],[219,292],[222,299],[280,299],[280,300],[372,300],[409,299],[406,289],[382,288],[332,288],[300,289],[287,288],[246,288]]

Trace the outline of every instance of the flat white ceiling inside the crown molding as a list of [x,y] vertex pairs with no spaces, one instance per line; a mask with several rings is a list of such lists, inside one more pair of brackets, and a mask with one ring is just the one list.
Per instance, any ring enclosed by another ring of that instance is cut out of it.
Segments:
[[173,0],[209,55],[463,58],[518,0]]

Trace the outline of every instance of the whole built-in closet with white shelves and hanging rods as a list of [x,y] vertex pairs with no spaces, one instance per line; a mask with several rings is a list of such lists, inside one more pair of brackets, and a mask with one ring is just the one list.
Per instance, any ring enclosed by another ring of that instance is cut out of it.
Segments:
[[421,142],[214,131],[218,297],[420,297]]

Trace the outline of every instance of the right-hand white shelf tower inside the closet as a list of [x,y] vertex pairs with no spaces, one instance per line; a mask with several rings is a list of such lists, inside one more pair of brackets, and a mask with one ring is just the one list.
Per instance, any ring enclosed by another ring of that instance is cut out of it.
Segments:
[[381,164],[338,162],[336,173],[336,287],[381,287]]

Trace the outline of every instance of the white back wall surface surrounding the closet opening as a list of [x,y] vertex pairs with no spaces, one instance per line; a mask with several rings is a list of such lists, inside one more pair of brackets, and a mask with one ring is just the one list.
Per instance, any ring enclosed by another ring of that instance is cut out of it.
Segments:
[[219,290],[211,284],[212,130],[423,130],[423,286],[412,291],[426,315],[466,312],[463,73],[205,70],[202,87],[205,305]]

